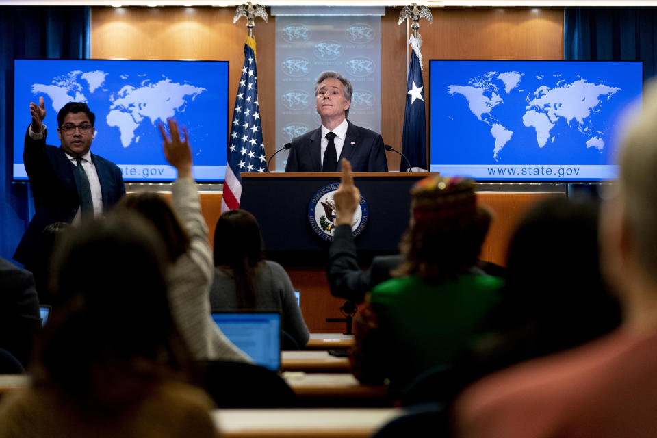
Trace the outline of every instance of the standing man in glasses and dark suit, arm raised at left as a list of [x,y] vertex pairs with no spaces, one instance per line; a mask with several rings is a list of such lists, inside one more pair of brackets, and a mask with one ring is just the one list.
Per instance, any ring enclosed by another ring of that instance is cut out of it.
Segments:
[[57,113],[59,148],[46,144],[43,97],[38,105],[31,102],[29,111],[32,120],[25,133],[23,162],[36,211],[14,253],[14,260],[28,269],[45,227],[93,218],[125,195],[118,166],[90,152],[96,117],[86,103],[66,103]]

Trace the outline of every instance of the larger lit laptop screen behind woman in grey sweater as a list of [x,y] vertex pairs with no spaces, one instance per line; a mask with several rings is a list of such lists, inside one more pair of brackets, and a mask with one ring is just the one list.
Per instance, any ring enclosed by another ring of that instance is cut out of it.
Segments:
[[212,312],[212,319],[257,365],[274,371],[281,368],[280,313]]

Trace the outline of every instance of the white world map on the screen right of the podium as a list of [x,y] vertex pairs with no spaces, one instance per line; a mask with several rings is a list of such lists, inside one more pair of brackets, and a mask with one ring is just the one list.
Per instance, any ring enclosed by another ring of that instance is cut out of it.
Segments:
[[[488,125],[492,157],[499,161],[504,146],[524,128],[534,131],[533,146],[537,148],[569,138],[569,131],[574,130],[584,136],[580,146],[602,152],[608,127],[593,123],[592,116],[604,112],[605,105],[622,88],[579,75],[488,71],[465,84],[450,84],[446,92],[455,100],[454,105],[463,99],[471,116]],[[518,105],[518,99],[524,103]],[[506,110],[507,101],[513,101],[513,107],[520,111]]]

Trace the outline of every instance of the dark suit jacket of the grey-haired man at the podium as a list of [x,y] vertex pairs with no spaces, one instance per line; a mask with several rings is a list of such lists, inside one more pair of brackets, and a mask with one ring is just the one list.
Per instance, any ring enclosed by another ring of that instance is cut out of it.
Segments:
[[[381,136],[347,120],[347,135],[337,160],[337,172],[342,170],[340,158],[351,163],[354,172],[387,172],[388,162]],[[292,140],[285,172],[322,172],[320,159],[322,127]]]

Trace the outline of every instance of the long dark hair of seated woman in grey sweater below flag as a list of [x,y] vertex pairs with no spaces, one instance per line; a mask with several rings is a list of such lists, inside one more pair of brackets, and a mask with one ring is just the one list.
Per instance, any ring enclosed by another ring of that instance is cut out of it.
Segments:
[[242,209],[219,216],[214,229],[214,264],[232,270],[241,309],[255,307],[251,276],[261,260],[262,237],[255,216]]

